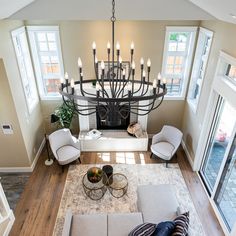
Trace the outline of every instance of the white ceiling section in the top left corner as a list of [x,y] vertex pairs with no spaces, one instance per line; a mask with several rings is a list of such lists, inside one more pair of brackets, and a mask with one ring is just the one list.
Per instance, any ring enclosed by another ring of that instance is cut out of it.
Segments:
[[19,11],[35,0],[0,0],[0,19],[4,19]]

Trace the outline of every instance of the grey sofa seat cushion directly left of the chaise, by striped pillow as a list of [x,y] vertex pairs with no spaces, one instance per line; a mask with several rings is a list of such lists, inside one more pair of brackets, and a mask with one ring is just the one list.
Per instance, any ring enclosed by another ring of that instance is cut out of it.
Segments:
[[108,236],[127,236],[133,228],[142,223],[140,212],[108,214]]

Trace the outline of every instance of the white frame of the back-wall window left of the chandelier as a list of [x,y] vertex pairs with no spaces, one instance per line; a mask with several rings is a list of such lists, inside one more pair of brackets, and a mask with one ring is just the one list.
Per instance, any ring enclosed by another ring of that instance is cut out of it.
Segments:
[[[43,83],[43,80],[45,79],[42,74],[42,63],[40,62],[40,52],[38,50],[38,41],[36,39],[36,33],[42,32],[42,33],[48,33],[53,32],[56,36],[56,45],[57,45],[57,56],[59,60],[59,66],[60,66],[60,78],[64,76],[64,64],[63,64],[63,57],[62,57],[62,48],[61,48],[61,41],[60,41],[60,31],[59,26],[27,26],[27,31],[29,34],[29,40],[30,40],[30,46],[31,46],[31,52],[33,55],[34,60],[34,66],[35,66],[35,72],[36,72],[36,78],[39,88],[39,95],[41,100],[60,100],[61,95],[58,92],[58,94],[50,95],[45,92],[45,86]],[[46,53],[45,53],[46,54]]]

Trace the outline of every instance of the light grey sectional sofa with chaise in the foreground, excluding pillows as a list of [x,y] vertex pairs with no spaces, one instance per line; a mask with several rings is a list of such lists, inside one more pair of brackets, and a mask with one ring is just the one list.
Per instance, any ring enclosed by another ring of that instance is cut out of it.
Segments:
[[67,211],[62,236],[127,236],[137,225],[172,220],[179,211],[173,186],[141,185],[137,189],[139,212],[73,215]]

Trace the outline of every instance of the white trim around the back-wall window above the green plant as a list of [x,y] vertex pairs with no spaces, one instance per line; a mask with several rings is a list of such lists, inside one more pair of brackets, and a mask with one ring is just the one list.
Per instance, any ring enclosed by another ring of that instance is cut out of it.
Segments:
[[30,46],[31,46],[31,51],[34,60],[34,66],[35,66],[35,72],[36,72],[36,78],[37,78],[37,83],[38,83],[38,88],[39,88],[39,95],[41,100],[61,100],[61,95],[58,94],[57,96],[47,96],[45,95],[43,91],[43,81],[42,81],[42,73],[41,73],[41,68],[40,68],[40,62],[39,58],[37,56],[38,51],[37,51],[37,45],[35,42],[35,34],[34,32],[42,32],[42,31],[53,31],[57,32],[56,37],[57,37],[57,43],[58,43],[58,48],[59,50],[59,63],[61,67],[61,76],[64,75],[64,64],[63,64],[63,59],[62,59],[62,48],[61,48],[61,41],[60,41],[60,31],[59,31],[59,26],[27,26],[27,31],[29,35],[29,40],[30,40]]

